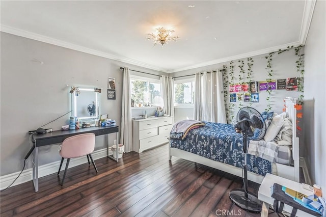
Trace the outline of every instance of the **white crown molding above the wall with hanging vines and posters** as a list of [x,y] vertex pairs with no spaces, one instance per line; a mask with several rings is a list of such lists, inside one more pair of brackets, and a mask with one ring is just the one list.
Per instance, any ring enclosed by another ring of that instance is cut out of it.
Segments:
[[279,45],[279,46],[275,46],[275,47],[269,47],[269,48],[265,48],[265,49],[261,49],[261,50],[242,53],[240,55],[235,55],[235,56],[231,56],[231,57],[226,57],[226,58],[221,58],[221,59],[217,59],[217,60],[207,61],[207,62],[203,62],[203,63],[200,63],[200,64],[196,64],[196,65],[192,65],[192,66],[188,66],[188,67],[184,67],[184,68],[169,70],[167,73],[180,72],[180,71],[184,71],[184,70],[195,69],[195,68],[214,65],[214,64],[219,64],[219,63],[225,63],[225,62],[229,62],[229,61],[232,61],[232,60],[234,61],[234,60],[244,59],[244,58],[248,58],[248,57],[255,57],[255,56],[258,56],[258,55],[263,55],[265,53],[274,52],[274,51],[277,51],[279,49],[283,50],[283,49],[286,49],[287,47],[290,47],[290,46],[297,47],[297,46],[300,46],[300,45],[302,45],[302,43],[300,41],[297,41],[297,42],[283,44],[283,45]]

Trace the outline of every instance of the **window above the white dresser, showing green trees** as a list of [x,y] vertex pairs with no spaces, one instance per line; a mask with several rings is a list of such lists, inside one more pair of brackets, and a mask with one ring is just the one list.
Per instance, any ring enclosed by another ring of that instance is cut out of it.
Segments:
[[130,89],[134,107],[162,105],[159,80],[130,76]]

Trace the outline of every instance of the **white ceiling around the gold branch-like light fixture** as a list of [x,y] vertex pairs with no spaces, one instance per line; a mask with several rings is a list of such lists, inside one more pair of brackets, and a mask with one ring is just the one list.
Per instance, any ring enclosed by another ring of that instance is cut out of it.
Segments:
[[1,1],[1,31],[170,73],[304,44],[314,2]]

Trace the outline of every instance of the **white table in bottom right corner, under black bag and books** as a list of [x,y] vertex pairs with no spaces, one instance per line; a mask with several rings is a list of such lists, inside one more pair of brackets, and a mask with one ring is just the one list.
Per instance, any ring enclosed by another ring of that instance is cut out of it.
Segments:
[[[294,191],[303,193],[307,196],[313,194],[312,191],[309,191],[309,190],[303,188],[301,183],[291,181],[291,180],[282,178],[280,176],[276,176],[276,175],[267,173],[265,178],[263,179],[263,181],[259,187],[259,191],[258,191],[258,199],[263,202],[263,207],[261,210],[261,217],[268,216],[268,206],[269,205],[273,206],[274,198],[271,197],[270,187],[273,186],[274,183],[278,183],[285,187],[291,188]],[[283,210],[288,213],[291,213],[292,207],[287,204],[284,204]],[[303,212],[298,209],[296,212],[296,216],[310,217],[313,215],[308,214],[308,213]]]

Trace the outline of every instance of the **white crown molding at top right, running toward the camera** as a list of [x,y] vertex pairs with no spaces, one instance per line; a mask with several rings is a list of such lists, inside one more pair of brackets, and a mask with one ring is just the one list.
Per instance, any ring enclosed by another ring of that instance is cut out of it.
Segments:
[[316,5],[316,0],[306,0],[304,14],[302,16],[301,30],[299,41],[301,44],[306,44],[307,36],[309,33],[309,28],[314,14],[314,9]]

